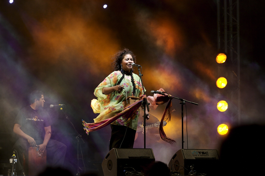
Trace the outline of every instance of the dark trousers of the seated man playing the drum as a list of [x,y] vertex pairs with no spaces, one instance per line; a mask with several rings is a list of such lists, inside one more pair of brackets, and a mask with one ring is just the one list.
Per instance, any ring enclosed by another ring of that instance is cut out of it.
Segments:
[[[35,140],[36,144],[42,144],[43,140]],[[26,166],[28,166],[28,159],[29,159],[29,143],[26,139],[24,138],[19,138],[16,143],[14,144],[14,149],[17,151],[18,154],[18,161],[17,161],[17,166],[16,166],[16,170],[21,170],[23,169],[23,153],[24,153],[24,157],[26,160]],[[50,139],[49,142],[46,145],[46,149],[47,149],[47,159],[50,157],[52,157],[52,165],[53,166],[62,166],[64,165],[64,157],[65,157],[65,153],[66,153],[66,145],[64,145],[63,143],[59,142],[59,141],[55,141],[53,139]],[[22,168],[21,168],[21,167]],[[25,171],[27,173],[27,168],[25,168]]]

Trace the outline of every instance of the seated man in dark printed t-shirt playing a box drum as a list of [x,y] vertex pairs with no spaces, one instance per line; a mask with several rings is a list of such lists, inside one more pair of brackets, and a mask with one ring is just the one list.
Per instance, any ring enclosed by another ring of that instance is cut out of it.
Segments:
[[[44,96],[40,91],[33,91],[30,94],[30,105],[21,109],[14,121],[14,133],[19,135],[19,139],[14,145],[18,152],[17,171],[23,169],[23,153],[28,163],[29,147],[39,147],[38,154],[42,155],[47,149],[47,156],[53,156],[53,166],[63,166],[66,153],[66,145],[51,138],[52,120],[43,108]],[[21,167],[22,168],[21,168]],[[26,168],[25,168],[26,169]]]

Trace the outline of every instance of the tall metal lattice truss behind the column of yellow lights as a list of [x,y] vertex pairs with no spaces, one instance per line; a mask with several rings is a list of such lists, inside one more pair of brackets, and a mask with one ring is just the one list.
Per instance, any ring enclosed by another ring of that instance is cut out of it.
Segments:
[[232,90],[228,99],[233,103],[230,105],[231,116],[240,124],[239,0],[234,0],[234,2],[233,0],[217,0],[217,35],[218,49],[223,49],[230,61],[228,84],[232,85]]

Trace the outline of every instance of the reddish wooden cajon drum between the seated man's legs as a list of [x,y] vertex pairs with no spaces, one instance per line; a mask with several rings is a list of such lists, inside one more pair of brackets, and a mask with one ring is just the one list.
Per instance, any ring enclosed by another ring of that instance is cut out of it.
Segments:
[[38,150],[38,147],[29,148],[29,175],[38,175],[46,167],[47,150],[40,156]]

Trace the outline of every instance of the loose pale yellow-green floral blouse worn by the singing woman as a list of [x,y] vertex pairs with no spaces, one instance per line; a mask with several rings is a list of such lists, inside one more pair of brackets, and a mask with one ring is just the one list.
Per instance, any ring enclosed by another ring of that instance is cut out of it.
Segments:
[[[135,97],[139,97],[143,94],[143,86],[140,82],[140,77],[132,73],[135,82]],[[132,96],[133,86],[131,82],[131,76],[125,75],[124,79],[120,83],[125,89],[119,94],[117,91],[112,92],[109,95],[102,94],[102,89],[104,87],[116,86],[117,82],[121,79],[122,73],[120,71],[114,71],[109,76],[107,76],[104,81],[102,81],[95,89],[94,95],[97,97],[91,101],[91,107],[94,113],[100,113],[97,118],[94,119],[95,122],[109,119],[115,114],[122,111],[125,108],[124,102],[127,97]],[[139,116],[139,109],[135,114],[130,117],[120,117],[112,124],[114,125],[125,125],[132,129],[137,129],[137,122]]]

